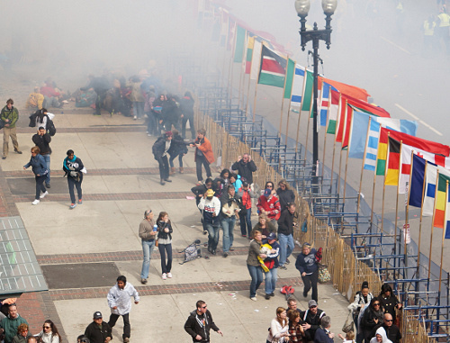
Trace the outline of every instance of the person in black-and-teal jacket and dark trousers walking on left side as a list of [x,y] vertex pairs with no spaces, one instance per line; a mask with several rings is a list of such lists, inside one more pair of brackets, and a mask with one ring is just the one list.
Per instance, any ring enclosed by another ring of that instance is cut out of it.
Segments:
[[67,150],[67,158],[64,158],[62,163],[62,169],[66,172],[68,193],[70,194],[70,206],[69,209],[73,210],[76,207],[74,186],[76,187],[76,193],[78,194],[78,204],[83,203],[83,190],[81,184],[83,183],[83,174],[85,174],[85,166],[80,158],[75,156],[75,152],[72,149]]

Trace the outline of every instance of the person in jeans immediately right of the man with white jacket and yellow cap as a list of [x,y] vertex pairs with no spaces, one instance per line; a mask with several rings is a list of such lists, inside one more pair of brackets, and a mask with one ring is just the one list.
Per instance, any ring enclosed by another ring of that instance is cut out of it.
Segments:
[[240,211],[239,201],[235,195],[234,185],[228,185],[227,192],[220,196],[220,225],[223,230],[223,257],[228,257],[229,251],[234,250],[231,248],[234,241],[234,224],[239,217]]

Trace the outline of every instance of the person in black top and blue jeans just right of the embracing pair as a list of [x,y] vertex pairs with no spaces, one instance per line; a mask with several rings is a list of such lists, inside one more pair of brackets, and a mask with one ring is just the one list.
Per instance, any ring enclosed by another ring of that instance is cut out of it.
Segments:
[[[293,252],[293,228],[296,227],[295,222],[295,203],[290,203],[287,211],[281,213],[278,220],[278,240],[280,241],[280,268],[286,269],[289,265],[289,258]],[[314,299],[314,298],[313,298]],[[315,299],[317,301],[317,299]]]

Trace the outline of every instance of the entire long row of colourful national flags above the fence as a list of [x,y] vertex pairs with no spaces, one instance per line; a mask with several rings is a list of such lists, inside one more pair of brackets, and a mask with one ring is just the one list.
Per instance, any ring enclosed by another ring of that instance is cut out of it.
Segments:
[[[274,37],[250,30],[223,8],[219,11],[220,28],[213,36],[232,50],[233,62],[257,84],[284,88],[291,107],[311,115],[312,71],[290,59]],[[434,216],[434,226],[445,229],[450,239],[450,147],[416,137],[417,122],[391,118],[382,107],[369,104],[368,97],[363,88],[319,77],[318,123],[335,135],[349,158],[364,159],[365,170],[384,176],[384,184],[396,185],[399,194],[408,192],[409,204]]]

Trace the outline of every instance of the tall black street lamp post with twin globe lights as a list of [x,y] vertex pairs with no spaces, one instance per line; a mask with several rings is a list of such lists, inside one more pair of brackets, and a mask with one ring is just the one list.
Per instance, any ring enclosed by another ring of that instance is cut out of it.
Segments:
[[[319,94],[319,42],[325,41],[327,49],[331,44],[331,15],[335,13],[338,0],[322,0],[323,13],[326,15],[325,30],[319,30],[317,23],[314,23],[312,30],[306,30],[306,17],[310,11],[310,0],[295,0],[295,10],[300,17],[302,24],[300,29],[300,37],[302,39],[302,51],[305,50],[306,43],[312,41],[312,57],[313,57],[313,77],[314,77],[314,94],[312,103],[312,191],[317,194],[319,191],[318,176],[318,160],[319,160],[319,132],[317,130],[317,98]],[[305,76],[306,77],[306,76]],[[323,162],[323,161],[322,161]]]

